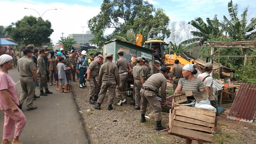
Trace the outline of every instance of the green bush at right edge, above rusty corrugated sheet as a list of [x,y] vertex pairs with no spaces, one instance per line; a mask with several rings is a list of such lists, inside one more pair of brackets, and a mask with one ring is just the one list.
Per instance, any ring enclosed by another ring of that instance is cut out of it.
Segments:
[[240,65],[236,70],[234,77],[241,80],[243,83],[256,84],[256,59],[248,60],[246,66]]

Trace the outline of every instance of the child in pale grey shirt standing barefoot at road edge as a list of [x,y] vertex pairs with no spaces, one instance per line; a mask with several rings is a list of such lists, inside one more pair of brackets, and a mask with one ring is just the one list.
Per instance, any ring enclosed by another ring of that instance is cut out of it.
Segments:
[[[70,68],[66,68],[64,64],[64,58],[60,57],[58,63],[58,75],[59,75],[59,82],[60,82],[60,90],[61,92],[68,92],[68,81],[66,77],[65,71],[68,71]],[[64,91],[62,89],[62,84],[64,84]]]

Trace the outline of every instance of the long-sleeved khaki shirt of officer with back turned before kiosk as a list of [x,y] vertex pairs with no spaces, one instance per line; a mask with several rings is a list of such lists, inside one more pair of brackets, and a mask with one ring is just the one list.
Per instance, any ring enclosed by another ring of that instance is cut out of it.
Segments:
[[101,65],[99,72],[99,84],[101,84],[102,80],[116,80],[116,84],[120,84],[117,65],[112,61],[107,61]]

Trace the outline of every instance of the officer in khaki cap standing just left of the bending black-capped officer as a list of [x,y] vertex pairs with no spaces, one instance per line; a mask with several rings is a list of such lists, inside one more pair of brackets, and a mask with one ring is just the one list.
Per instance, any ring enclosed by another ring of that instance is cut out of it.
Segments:
[[140,109],[140,89],[142,84],[144,84],[144,79],[143,79],[143,69],[141,65],[143,65],[143,62],[145,60],[142,59],[142,57],[138,57],[136,59],[137,65],[132,68],[132,73],[133,73],[133,79],[134,79],[134,89],[135,89],[135,109],[139,110]]

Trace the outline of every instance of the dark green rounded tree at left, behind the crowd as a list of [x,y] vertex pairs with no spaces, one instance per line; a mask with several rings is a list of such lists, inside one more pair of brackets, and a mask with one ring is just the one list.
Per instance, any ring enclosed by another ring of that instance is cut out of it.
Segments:
[[49,38],[53,32],[49,20],[43,20],[34,16],[25,16],[21,20],[6,27],[6,32],[18,44],[34,44],[42,46],[43,43],[50,43]]

